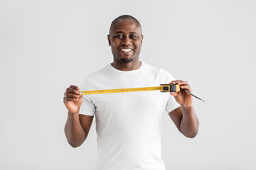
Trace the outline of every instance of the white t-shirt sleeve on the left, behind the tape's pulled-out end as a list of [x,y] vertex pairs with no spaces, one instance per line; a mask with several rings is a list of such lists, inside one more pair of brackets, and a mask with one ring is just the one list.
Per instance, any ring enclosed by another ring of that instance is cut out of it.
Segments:
[[[82,81],[80,86],[81,91],[90,91],[90,83],[88,79]],[[82,115],[95,115],[95,105],[92,103],[91,95],[82,96],[82,105],[80,106],[79,114]]]

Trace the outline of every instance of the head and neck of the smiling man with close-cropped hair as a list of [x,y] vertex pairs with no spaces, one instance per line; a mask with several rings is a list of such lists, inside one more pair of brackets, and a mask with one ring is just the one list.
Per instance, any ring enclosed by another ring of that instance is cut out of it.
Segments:
[[112,66],[123,71],[138,69],[141,65],[142,27],[135,18],[124,20],[122,17],[112,22],[110,35],[107,35],[114,56]]

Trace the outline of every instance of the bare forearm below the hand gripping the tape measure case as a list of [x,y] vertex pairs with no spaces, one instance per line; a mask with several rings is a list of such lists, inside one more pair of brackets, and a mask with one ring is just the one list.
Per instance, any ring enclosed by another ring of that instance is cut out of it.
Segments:
[[183,113],[180,125],[181,132],[186,137],[195,137],[198,133],[199,120],[193,106],[188,108],[181,106],[181,108]]

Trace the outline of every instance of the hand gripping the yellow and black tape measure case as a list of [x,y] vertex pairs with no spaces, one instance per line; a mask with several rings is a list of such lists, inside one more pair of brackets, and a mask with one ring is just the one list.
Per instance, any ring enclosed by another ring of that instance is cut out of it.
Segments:
[[171,81],[170,84],[180,85],[181,91],[171,93],[171,95],[175,97],[176,101],[181,106],[191,107],[193,97],[190,94],[188,94],[186,91],[182,90],[182,89],[186,89],[186,90],[188,90],[189,92],[192,93],[191,87],[188,85],[188,82],[187,81],[182,81],[182,80],[175,80],[175,81]]

